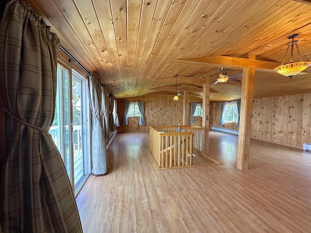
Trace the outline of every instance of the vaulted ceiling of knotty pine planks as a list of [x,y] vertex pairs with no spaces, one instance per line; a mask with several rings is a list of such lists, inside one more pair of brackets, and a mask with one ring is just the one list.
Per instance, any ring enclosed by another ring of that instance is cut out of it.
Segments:
[[[211,56],[280,64],[296,38],[311,60],[311,5],[302,0],[26,0],[57,33],[62,47],[97,74],[116,98],[188,91],[210,100],[241,98],[242,68],[187,62]],[[289,61],[289,57],[287,58]],[[294,51],[294,60],[298,61]],[[213,84],[220,67],[235,82]],[[207,79],[207,81],[206,81]],[[311,67],[292,79],[256,70],[254,97],[311,92]]]

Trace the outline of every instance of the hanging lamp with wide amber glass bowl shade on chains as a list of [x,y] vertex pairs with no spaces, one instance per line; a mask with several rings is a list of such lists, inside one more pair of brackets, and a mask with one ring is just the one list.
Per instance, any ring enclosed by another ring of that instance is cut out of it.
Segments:
[[[284,75],[286,77],[292,78],[294,75],[300,73],[301,71],[303,71],[305,68],[309,67],[311,65],[311,62],[309,61],[303,61],[301,59],[301,55],[300,52],[298,50],[298,40],[294,40],[295,37],[297,37],[298,34],[293,34],[288,36],[288,39],[292,39],[291,42],[287,43],[287,50],[285,52],[285,57],[283,59],[283,62],[280,66],[274,68],[274,70],[281,74]],[[300,59],[300,62],[293,62],[293,50],[294,50],[294,45],[296,46],[296,50]],[[286,59],[286,55],[287,52],[289,50],[289,48],[291,47],[291,57],[290,57],[290,62],[288,64],[284,65],[285,59]]]

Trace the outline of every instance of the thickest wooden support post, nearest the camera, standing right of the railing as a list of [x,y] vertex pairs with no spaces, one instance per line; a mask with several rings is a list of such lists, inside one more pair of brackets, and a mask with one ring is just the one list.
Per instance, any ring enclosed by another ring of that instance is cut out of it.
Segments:
[[[255,59],[255,55],[249,55],[250,59]],[[252,123],[252,106],[254,93],[255,68],[246,67],[243,69],[242,94],[239,142],[237,154],[237,167],[240,170],[248,169],[249,143]]]

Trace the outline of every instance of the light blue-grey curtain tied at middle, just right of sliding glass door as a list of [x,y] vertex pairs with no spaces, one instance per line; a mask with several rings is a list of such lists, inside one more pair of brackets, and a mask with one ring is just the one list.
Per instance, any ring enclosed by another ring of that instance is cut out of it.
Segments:
[[92,174],[102,176],[109,168],[105,133],[103,127],[102,111],[102,84],[97,78],[90,74],[88,77],[88,94],[93,115],[92,128]]

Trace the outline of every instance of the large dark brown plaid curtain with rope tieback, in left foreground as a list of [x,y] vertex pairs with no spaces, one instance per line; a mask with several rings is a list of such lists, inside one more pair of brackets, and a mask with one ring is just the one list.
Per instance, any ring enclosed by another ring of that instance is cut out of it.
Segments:
[[59,40],[22,0],[7,1],[0,17],[5,125],[0,232],[80,233],[69,178],[48,132],[55,111]]

